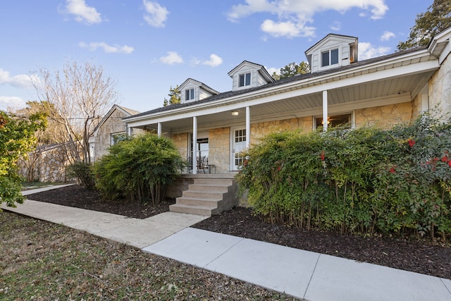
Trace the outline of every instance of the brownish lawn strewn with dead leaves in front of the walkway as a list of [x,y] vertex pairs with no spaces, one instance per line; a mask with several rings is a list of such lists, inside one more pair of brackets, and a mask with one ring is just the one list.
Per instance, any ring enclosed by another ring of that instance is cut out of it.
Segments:
[[292,299],[8,211],[0,224],[0,300]]

